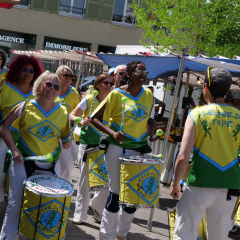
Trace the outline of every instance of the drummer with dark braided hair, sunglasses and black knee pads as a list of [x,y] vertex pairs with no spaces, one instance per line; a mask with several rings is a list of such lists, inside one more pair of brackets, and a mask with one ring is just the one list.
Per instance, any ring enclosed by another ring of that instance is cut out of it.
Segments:
[[[153,94],[142,85],[147,79],[146,66],[141,61],[127,65],[123,76],[125,85],[112,91],[92,114],[92,123],[108,134],[109,146],[105,160],[109,175],[109,191],[100,227],[100,239],[126,239],[136,208],[123,206],[119,211],[120,160],[124,154],[141,155],[150,152],[147,145],[148,131],[155,131]],[[122,83],[123,84],[123,83]],[[122,98],[127,97],[124,131],[120,131],[122,119]],[[107,125],[110,126],[107,127]],[[156,141],[150,138],[150,141]]]

